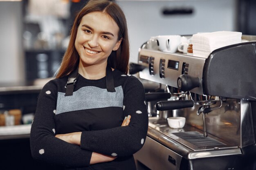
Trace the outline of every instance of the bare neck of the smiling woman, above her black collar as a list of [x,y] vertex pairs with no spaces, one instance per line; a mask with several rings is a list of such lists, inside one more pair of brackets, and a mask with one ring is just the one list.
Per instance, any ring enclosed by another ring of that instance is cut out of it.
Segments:
[[106,64],[84,66],[79,62],[78,73],[86,79],[101,79],[106,76]]

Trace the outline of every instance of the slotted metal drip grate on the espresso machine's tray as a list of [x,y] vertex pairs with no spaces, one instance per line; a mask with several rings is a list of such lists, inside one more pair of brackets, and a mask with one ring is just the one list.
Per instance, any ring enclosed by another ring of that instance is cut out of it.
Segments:
[[216,139],[211,137],[204,137],[202,133],[199,132],[177,132],[172,133],[173,135],[180,137],[181,139],[188,141],[194,146],[197,147],[205,147],[205,146],[218,146],[218,145],[226,145]]

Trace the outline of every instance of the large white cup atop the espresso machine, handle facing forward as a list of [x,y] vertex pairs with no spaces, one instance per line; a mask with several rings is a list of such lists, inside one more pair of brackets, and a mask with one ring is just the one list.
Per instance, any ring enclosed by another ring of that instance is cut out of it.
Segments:
[[164,52],[175,53],[181,42],[180,35],[159,35],[157,36],[158,49]]

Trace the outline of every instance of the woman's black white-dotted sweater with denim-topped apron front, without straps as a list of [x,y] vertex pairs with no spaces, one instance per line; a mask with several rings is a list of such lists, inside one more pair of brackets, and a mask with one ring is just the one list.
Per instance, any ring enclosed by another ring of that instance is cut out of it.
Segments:
[[[106,77],[90,80],[81,75],[72,96],[65,96],[67,76],[43,87],[31,127],[35,159],[88,169],[135,169],[132,154],[143,146],[148,129],[144,88],[134,76],[118,70],[113,75],[115,92],[107,91]],[[128,115],[129,126],[121,126]],[[81,146],[55,137],[71,132],[82,132]],[[118,158],[89,166],[92,152]]]

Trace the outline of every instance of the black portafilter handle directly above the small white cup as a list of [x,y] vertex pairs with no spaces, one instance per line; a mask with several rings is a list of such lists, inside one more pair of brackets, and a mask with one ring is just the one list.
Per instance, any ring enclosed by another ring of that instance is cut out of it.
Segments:
[[159,111],[164,110],[176,110],[180,108],[191,108],[194,106],[194,102],[192,100],[168,100],[168,101],[160,101],[155,105],[156,109]]

